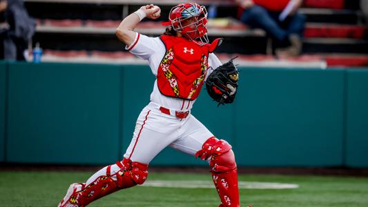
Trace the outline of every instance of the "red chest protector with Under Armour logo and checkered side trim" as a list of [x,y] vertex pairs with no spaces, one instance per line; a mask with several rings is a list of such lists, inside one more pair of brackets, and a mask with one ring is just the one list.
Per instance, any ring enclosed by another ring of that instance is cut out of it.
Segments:
[[209,53],[220,45],[222,39],[204,46],[184,37],[162,35],[161,40],[166,54],[157,71],[159,91],[168,97],[196,99],[209,68]]

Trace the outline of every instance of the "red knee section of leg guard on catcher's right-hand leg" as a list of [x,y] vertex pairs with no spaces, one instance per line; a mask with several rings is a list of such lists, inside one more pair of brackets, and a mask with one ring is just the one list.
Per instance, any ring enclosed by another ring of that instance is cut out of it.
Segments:
[[195,157],[209,159],[210,166],[216,172],[228,172],[236,169],[235,155],[231,145],[223,139],[211,137],[204,142],[202,150],[195,153]]

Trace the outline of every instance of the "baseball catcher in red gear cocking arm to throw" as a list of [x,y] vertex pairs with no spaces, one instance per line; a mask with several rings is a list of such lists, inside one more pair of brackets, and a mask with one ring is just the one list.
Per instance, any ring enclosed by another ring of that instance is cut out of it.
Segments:
[[[240,206],[232,146],[215,137],[191,113],[206,77],[213,99],[219,104],[233,102],[238,70],[233,59],[222,65],[214,54],[222,39],[210,43],[204,6],[180,3],[171,8],[168,21],[162,23],[166,32],[159,37],[134,31],[142,19],[157,19],[159,15],[158,6],[142,6],[123,19],[116,30],[126,50],[147,60],[156,77],[150,102],[137,118],[123,160],[101,168],[85,182],[71,184],[59,207],[85,207],[117,190],[143,184],[148,165],[166,147],[207,161],[220,198],[219,207]],[[210,68],[215,68],[211,74]]]

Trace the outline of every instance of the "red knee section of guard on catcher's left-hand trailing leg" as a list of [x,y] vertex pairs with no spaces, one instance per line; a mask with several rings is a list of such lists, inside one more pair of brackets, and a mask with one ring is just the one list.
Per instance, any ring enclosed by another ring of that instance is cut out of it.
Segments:
[[121,169],[118,177],[129,177],[133,179],[135,184],[142,185],[148,176],[148,164],[142,164],[137,161],[131,161],[124,158],[122,161],[117,161],[117,166]]

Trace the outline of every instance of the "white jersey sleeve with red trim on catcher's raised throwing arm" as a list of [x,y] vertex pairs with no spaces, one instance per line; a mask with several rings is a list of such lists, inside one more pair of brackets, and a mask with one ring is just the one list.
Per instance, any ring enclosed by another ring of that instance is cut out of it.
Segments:
[[147,37],[144,34],[135,32],[135,39],[130,46],[126,46],[128,50],[133,55],[140,57],[142,59],[150,59],[150,57],[157,52],[157,38]]

